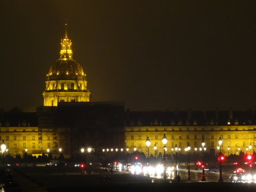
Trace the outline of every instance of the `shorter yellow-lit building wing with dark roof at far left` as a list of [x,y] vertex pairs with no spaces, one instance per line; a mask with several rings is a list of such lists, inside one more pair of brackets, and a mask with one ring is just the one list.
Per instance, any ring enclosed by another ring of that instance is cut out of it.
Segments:
[[1,111],[0,140],[4,140],[10,156],[22,157],[25,152],[37,156],[47,154],[47,149],[58,156],[60,148],[63,154],[69,154],[68,136],[69,130],[57,129],[55,120],[42,109]]

